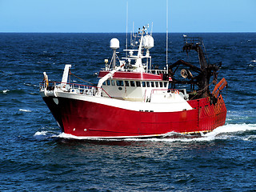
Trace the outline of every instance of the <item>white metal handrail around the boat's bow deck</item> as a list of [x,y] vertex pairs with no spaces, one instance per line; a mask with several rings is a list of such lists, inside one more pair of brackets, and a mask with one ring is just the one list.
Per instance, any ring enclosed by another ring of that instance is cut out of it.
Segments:
[[[47,86],[46,86],[46,83],[48,84]],[[54,81],[45,82],[45,81],[43,81],[42,83],[39,83],[39,88],[43,90],[43,89],[45,89],[46,87],[53,87],[53,89],[54,89],[54,88],[57,87],[58,85],[60,86],[61,83],[64,83],[64,84],[66,84],[66,85],[70,85],[70,89],[78,88],[78,90],[92,90],[93,88],[95,88],[94,91],[96,91],[97,89],[101,89],[101,90],[103,90],[103,91],[106,93],[106,95],[107,95],[109,98],[111,98],[111,97],[110,97],[110,94],[108,94],[108,93],[106,92],[106,90],[104,90],[102,87],[99,88],[99,87],[97,87],[97,86],[88,86],[88,85],[83,85],[83,84],[78,84],[78,83],[72,83],[72,82],[54,82]],[[57,85],[57,84],[58,84],[58,85]],[[52,86],[50,86],[50,85],[52,85]],[[78,86],[78,87],[76,87],[76,86]],[[82,89],[81,86],[83,86],[83,89]],[[96,94],[96,93],[94,93],[94,94]]]

